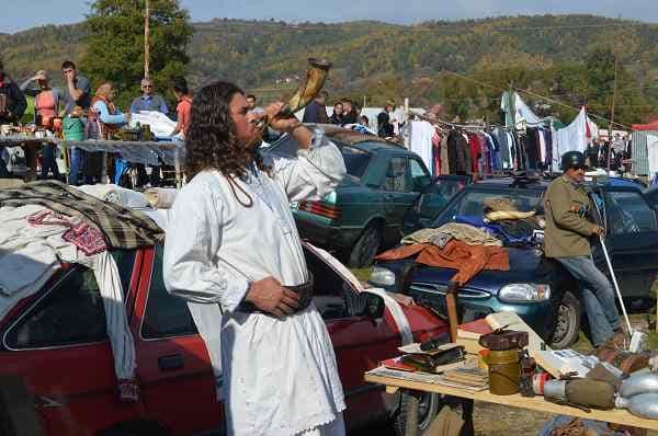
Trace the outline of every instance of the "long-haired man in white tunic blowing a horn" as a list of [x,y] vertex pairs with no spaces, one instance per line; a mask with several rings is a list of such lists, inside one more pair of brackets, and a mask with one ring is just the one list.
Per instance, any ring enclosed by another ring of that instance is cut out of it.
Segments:
[[275,119],[282,106],[265,115],[299,145],[297,158],[265,161],[263,115],[249,112],[239,88],[215,82],[195,94],[185,141],[193,179],[168,225],[164,282],[188,301],[220,307],[200,333],[220,329],[229,434],[343,435],[336,357],[288,204],[331,192],[345,167],[321,130]]

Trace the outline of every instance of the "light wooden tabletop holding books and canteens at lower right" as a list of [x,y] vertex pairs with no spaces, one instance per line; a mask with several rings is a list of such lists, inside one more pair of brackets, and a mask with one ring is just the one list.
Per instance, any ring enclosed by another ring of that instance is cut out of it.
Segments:
[[[377,369],[374,369],[373,371],[376,371]],[[586,420],[602,421],[613,424],[623,424],[637,428],[658,431],[658,420],[645,420],[642,417],[637,417],[625,410],[615,409],[610,411],[600,411],[592,409],[590,413],[587,413],[576,408],[551,403],[548,401],[545,401],[543,397],[526,398],[521,397],[520,393],[515,393],[513,395],[495,395],[488,390],[474,392],[443,385],[434,385],[420,381],[402,380],[393,377],[377,376],[375,374],[372,374],[373,371],[365,374],[365,381],[384,385],[386,387],[386,391],[389,393],[393,393],[400,388],[408,389],[411,391],[435,392],[444,395],[458,397],[473,401],[484,401],[488,403],[508,405],[511,408],[526,409],[538,412],[548,412],[558,415],[568,415]]]

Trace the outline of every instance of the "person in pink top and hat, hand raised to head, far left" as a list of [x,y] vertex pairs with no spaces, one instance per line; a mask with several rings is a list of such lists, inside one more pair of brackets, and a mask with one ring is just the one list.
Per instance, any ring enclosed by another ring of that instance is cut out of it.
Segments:
[[[50,88],[48,73],[45,70],[38,70],[36,74],[25,80],[21,84],[21,90],[26,91],[32,82],[38,87],[38,93],[34,96],[36,125],[53,128],[53,121],[58,116],[59,108],[64,103],[64,92],[58,88]],[[49,171],[53,171],[55,179],[59,179],[59,169],[55,160],[56,150],[57,146],[54,144],[42,146],[42,179],[47,179]]]

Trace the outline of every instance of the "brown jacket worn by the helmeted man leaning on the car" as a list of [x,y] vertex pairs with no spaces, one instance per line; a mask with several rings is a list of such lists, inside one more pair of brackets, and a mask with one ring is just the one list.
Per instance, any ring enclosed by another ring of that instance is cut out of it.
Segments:
[[544,206],[546,257],[591,255],[589,238],[597,225],[587,219],[592,203],[585,186],[571,182],[566,175],[557,177],[546,191]]

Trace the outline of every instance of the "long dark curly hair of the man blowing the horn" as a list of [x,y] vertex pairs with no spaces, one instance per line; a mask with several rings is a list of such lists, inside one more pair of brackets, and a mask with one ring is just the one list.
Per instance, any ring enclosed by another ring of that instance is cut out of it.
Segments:
[[237,93],[245,95],[235,84],[223,81],[207,84],[195,93],[185,136],[185,171],[191,177],[204,170],[217,170],[232,186],[232,179],[245,175],[251,162],[268,170],[256,148],[245,147],[237,140],[229,111]]

